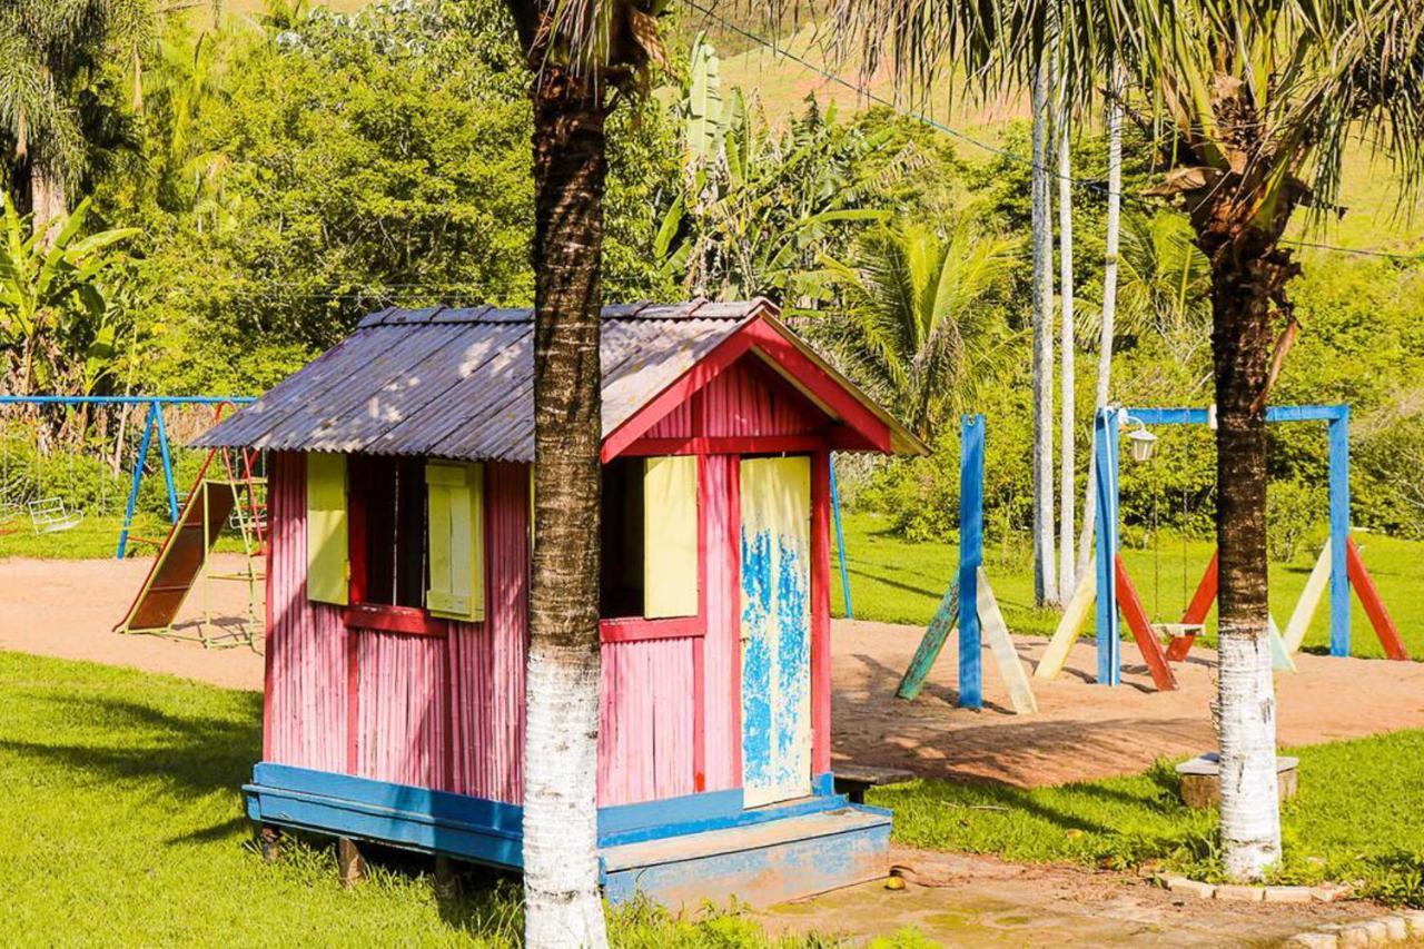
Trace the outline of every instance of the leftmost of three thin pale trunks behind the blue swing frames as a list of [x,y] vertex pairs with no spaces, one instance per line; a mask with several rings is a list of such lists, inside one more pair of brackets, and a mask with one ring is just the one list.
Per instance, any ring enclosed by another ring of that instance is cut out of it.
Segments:
[[1034,603],[1058,601],[1054,569],[1054,238],[1048,225],[1048,70],[1034,76]]

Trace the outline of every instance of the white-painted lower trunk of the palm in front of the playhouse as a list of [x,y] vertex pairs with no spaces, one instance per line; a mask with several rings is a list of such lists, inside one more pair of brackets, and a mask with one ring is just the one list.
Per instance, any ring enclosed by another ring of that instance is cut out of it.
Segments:
[[524,725],[530,949],[608,945],[598,892],[598,657],[533,640]]

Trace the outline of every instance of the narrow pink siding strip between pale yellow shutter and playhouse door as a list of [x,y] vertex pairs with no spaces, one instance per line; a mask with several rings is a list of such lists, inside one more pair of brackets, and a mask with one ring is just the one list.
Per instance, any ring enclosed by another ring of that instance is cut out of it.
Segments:
[[706,681],[706,789],[742,785],[742,722],[738,684],[742,678],[742,643],[738,611],[738,520],[732,479],[738,460],[708,456],[703,465],[702,503],[706,510],[706,636],[702,644]]

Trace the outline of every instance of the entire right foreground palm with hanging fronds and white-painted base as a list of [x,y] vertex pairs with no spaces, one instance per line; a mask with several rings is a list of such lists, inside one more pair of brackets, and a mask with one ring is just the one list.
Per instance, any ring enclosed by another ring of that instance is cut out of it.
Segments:
[[[854,7],[853,14],[849,13]],[[1212,275],[1220,732],[1226,871],[1280,858],[1276,700],[1266,601],[1266,398],[1274,326],[1300,272],[1282,238],[1331,209],[1363,138],[1414,188],[1424,175],[1424,4],[1417,0],[864,0],[836,7],[901,78],[946,66],[1022,87],[1057,53],[1069,104],[1122,104],[1159,148],[1156,194],[1188,214]],[[1049,28],[1051,23],[1061,28]]]

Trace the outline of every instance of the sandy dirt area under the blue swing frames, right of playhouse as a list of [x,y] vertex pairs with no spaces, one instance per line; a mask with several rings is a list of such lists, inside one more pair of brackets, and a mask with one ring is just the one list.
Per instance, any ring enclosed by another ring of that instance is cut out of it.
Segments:
[[[954,637],[914,702],[896,685],[923,630],[889,623],[836,623],[833,643],[834,757],[909,768],[940,778],[1032,787],[1142,771],[1163,755],[1216,747],[1209,702],[1216,654],[1193,650],[1173,665],[1179,690],[1158,693],[1136,645],[1122,645],[1122,687],[1094,684],[1091,643],[1074,647],[1064,673],[1032,680],[1037,715],[1014,715],[993,658],[984,653],[984,711],[954,708]],[[1017,640],[1028,668],[1047,640]],[[1424,664],[1296,655],[1296,674],[1276,675],[1284,745],[1424,728]]]

